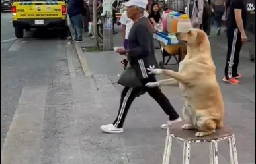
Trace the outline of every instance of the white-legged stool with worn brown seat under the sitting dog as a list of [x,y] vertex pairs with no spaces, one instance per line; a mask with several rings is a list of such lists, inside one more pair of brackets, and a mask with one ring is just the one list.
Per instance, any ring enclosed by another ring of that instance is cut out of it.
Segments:
[[217,129],[216,132],[210,136],[196,137],[194,135],[196,134],[197,130],[183,130],[181,129],[183,124],[186,123],[181,121],[169,126],[165,140],[163,164],[169,164],[172,138],[176,138],[184,142],[183,164],[189,164],[192,143],[206,142],[210,142],[210,164],[218,164],[218,142],[226,139],[228,139],[228,146],[230,147],[230,164],[238,164],[235,136],[232,133],[230,126],[225,125],[224,128]]

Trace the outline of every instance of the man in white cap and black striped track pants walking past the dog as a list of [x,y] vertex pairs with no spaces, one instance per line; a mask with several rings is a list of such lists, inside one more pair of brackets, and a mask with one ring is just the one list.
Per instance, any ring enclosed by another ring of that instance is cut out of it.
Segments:
[[[124,86],[121,94],[118,115],[113,123],[101,126],[101,130],[104,132],[121,133],[124,131],[123,124],[130,105],[132,105],[132,102],[142,90],[148,92],[148,94],[161,106],[163,111],[169,115],[169,121],[167,124],[163,124],[161,126],[162,128],[166,129],[169,124],[181,121],[181,118],[175,109],[173,109],[167,97],[161,92],[160,88],[147,88],[145,86],[148,82],[156,82],[155,75],[149,74],[146,68],[153,67],[153,65],[157,66],[154,54],[153,30],[148,26],[148,18],[143,16],[147,4],[147,0],[130,0],[124,3],[124,5],[128,7],[127,16],[132,19],[134,24],[130,29],[128,37],[128,49],[120,48],[117,49],[116,52],[120,53],[120,55],[127,55],[130,67],[134,70],[136,79],[141,85],[134,88]],[[127,78],[127,80],[129,80],[129,78]]]

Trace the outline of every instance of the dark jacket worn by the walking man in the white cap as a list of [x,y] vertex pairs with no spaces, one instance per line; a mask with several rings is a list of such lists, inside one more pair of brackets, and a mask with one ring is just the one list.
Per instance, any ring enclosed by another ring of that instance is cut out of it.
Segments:
[[148,18],[140,18],[132,26],[128,36],[128,61],[136,70],[140,79],[146,79],[149,74],[147,68],[158,68],[155,59],[155,45],[153,43],[153,31],[148,27]]

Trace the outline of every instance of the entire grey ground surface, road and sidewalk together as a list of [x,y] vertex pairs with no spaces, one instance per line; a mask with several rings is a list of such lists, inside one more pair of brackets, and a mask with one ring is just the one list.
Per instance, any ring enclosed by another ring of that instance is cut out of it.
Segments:
[[[161,163],[167,116],[147,94],[132,104],[123,134],[105,134],[101,124],[112,123],[118,111],[122,73],[114,51],[77,55],[73,44],[58,32],[26,32],[16,39],[11,14],[1,14],[1,161],[3,164],[155,164]],[[85,36],[86,37],[86,36]],[[234,129],[239,163],[255,163],[254,63],[241,53],[242,84],[222,83],[225,37],[210,38],[217,78],[226,106],[225,123]],[[85,38],[79,44],[91,45]],[[120,35],[115,36],[120,46]],[[161,59],[156,50],[157,59]],[[84,58],[84,59],[81,59]],[[81,62],[79,61],[86,61]],[[86,59],[86,60],[85,60]],[[80,64],[82,63],[82,65]],[[85,66],[86,65],[86,66]],[[85,76],[88,67],[91,76]],[[177,70],[177,65],[167,66]],[[163,77],[158,77],[163,78]],[[163,92],[181,114],[178,88]],[[191,164],[208,163],[208,145],[191,148]],[[183,143],[174,141],[171,164],[182,161]],[[228,162],[228,144],[219,144],[220,163]]]

